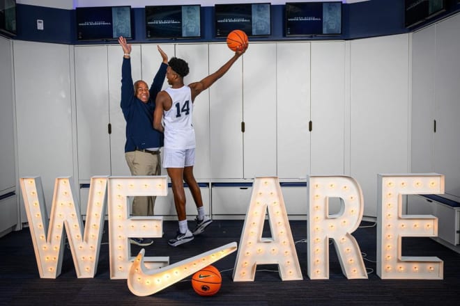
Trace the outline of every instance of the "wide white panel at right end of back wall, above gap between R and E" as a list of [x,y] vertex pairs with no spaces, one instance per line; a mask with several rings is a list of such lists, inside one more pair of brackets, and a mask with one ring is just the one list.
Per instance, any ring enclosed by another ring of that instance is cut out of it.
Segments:
[[408,34],[351,42],[351,177],[376,216],[378,173],[408,171]]

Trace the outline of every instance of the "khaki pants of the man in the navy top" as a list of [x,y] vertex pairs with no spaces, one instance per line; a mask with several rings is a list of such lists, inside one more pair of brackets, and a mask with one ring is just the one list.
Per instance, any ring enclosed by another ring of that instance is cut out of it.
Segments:
[[[160,175],[160,152],[151,154],[141,151],[125,152],[131,175]],[[153,216],[156,197],[135,197],[132,201],[132,216]]]

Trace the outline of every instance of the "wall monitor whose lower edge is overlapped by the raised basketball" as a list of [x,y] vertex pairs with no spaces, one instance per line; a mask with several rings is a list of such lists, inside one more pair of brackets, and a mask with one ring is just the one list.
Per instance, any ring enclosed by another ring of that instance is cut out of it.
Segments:
[[270,3],[215,4],[215,37],[227,37],[233,30],[247,36],[271,35]]

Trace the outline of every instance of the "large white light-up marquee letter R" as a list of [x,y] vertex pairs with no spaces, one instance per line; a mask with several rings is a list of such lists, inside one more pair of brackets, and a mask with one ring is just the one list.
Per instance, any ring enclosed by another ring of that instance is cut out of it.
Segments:
[[[329,278],[329,239],[337,250],[348,279],[367,278],[366,266],[355,238],[364,204],[358,182],[351,177],[310,176],[308,190],[307,266],[312,280]],[[329,216],[328,198],[342,198],[339,214]]]

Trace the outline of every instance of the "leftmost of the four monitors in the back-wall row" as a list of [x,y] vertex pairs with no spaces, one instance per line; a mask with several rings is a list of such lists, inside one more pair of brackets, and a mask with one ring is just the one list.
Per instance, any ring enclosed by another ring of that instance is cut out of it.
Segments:
[[75,8],[77,40],[132,38],[130,6]]

